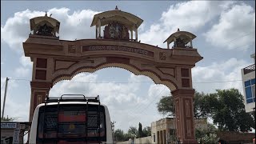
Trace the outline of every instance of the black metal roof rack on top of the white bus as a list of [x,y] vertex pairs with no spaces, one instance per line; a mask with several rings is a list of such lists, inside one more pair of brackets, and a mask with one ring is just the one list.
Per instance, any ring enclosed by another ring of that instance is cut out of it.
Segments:
[[59,97],[46,97],[46,103],[49,102],[99,102],[99,96],[86,97],[83,94],[62,94]]

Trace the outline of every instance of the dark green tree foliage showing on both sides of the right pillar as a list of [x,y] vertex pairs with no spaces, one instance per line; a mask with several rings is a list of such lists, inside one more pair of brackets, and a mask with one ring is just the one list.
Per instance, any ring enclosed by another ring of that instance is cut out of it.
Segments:
[[[158,112],[174,114],[171,96],[163,96],[157,103]],[[213,94],[194,94],[194,118],[210,117],[219,130],[248,131],[255,125],[255,119],[246,113],[242,94],[238,89],[216,90]]]

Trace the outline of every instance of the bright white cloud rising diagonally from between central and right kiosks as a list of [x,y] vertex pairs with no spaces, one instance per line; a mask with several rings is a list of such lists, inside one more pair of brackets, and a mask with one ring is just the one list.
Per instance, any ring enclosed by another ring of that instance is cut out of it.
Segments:
[[158,23],[150,26],[140,34],[143,43],[150,43],[166,47],[162,44],[179,28],[182,31],[196,32],[220,14],[220,11],[226,9],[234,2],[217,2],[217,1],[190,1],[179,2],[171,5],[170,8],[162,13]]

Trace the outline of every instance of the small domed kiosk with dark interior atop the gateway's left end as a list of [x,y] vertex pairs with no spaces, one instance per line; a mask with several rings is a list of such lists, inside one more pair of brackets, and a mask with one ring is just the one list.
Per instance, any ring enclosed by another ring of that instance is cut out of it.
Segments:
[[34,35],[56,37],[58,33],[60,22],[58,20],[47,16],[36,17],[30,19],[30,30],[33,31]]

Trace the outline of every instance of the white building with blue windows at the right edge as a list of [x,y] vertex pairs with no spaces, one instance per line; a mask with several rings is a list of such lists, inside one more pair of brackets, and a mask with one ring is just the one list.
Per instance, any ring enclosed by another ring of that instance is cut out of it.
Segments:
[[255,110],[255,53],[250,57],[254,58],[254,64],[241,70],[246,113],[252,113]]

